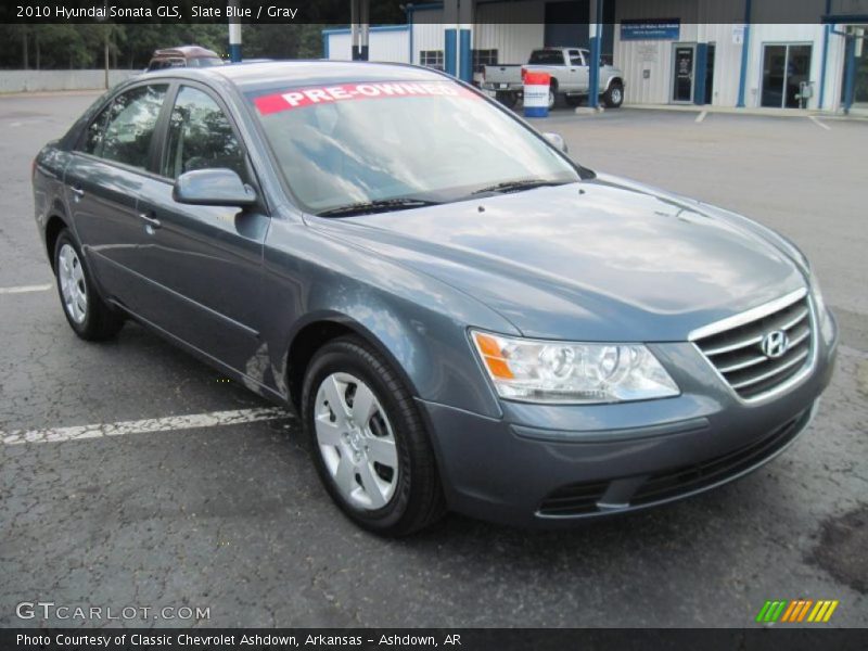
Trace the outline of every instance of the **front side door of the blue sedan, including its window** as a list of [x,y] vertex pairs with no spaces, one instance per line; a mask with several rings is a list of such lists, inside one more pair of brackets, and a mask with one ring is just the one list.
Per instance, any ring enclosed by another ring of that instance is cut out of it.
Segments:
[[142,183],[138,204],[150,239],[139,266],[161,293],[153,319],[259,382],[266,207],[186,205],[173,199],[175,180],[196,169],[229,168],[255,186],[242,140],[216,94],[183,81],[161,141],[158,175]]

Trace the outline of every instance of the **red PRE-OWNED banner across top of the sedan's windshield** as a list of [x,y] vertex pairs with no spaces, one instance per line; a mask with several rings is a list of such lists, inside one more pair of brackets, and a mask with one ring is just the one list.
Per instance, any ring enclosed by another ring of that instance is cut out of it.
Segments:
[[467,88],[449,81],[376,81],[371,84],[341,84],[337,86],[294,88],[286,92],[258,97],[254,99],[254,103],[260,115],[268,115],[279,111],[302,108],[314,104],[435,95],[477,98],[475,93]]

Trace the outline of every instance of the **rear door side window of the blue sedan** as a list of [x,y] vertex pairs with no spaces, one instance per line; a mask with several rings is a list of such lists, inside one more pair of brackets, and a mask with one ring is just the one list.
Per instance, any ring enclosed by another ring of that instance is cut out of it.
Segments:
[[[98,143],[91,153],[107,161],[146,169],[151,138],[167,88],[166,85],[139,86],[115,98],[108,110],[102,143]],[[86,148],[91,141],[90,136],[88,133]]]

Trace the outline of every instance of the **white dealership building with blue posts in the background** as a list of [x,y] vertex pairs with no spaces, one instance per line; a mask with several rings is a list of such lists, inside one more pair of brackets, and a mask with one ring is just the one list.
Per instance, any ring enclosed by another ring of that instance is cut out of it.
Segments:
[[403,25],[323,30],[324,56],[355,52],[480,81],[486,64],[578,47],[623,71],[628,104],[868,113],[868,0],[446,0],[404,8]]

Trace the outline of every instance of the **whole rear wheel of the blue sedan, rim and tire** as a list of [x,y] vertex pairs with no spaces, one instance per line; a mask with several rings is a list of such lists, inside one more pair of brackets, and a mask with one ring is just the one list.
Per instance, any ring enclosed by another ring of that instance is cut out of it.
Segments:
[[54,244],[54,275],[63,314],[78,336],[102,341],[117,334],[124,318],[97,293],[81,250],[66,229]]

